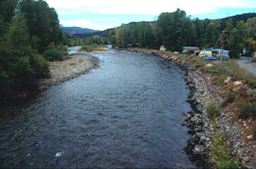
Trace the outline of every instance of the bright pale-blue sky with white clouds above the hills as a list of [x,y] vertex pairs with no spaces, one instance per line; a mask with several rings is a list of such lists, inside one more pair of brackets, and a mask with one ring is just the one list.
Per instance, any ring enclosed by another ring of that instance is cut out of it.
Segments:
[[217,19],[256,12],[256,0],[45,0],[63,26],[103,31],[129,22],[157,20],[161,12],[184,10],[191,18]]

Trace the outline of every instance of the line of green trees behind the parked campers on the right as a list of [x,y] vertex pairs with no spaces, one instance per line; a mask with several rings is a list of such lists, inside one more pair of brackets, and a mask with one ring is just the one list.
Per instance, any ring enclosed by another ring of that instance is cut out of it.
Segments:
[[255,43],[256,17],[240,22],[229,19],[221,29],[221,20],[191,19],[183,10],[164,12],[156,22],[138,22],[122,24],[109,33],[109,41],[119,48],[138,43],[140,48],[156,48],[165,45],[167,50],[182,52],[183,46],[199,48],[221,48],[222,33],[225,39],[225,50],[230,56],[239,57],[246,48],[246,55],[251,56]]

